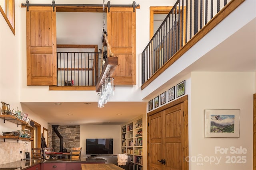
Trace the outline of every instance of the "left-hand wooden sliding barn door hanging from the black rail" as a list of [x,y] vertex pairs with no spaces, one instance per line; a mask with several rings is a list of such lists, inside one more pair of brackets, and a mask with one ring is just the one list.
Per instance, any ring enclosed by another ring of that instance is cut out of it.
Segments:
[[26,25],[27,85],[56,85],[56,9],[30,6]]

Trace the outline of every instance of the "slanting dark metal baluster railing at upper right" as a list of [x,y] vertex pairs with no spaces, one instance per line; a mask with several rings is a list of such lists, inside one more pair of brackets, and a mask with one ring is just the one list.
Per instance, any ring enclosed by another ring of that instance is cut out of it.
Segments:
[[234,0],[178,0],[142,52],[142,86]]

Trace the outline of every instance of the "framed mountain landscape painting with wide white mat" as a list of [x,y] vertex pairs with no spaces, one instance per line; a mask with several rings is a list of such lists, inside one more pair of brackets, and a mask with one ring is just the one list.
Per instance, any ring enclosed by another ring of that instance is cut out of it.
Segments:
[[205,109],[204,137],[239,137],[240,110]]

